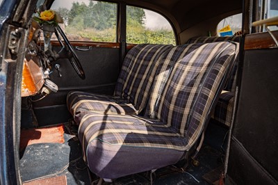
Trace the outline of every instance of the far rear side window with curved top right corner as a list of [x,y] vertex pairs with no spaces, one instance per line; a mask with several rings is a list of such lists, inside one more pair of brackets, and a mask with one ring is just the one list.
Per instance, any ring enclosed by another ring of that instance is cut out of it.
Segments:
[[126,7],[126,42],[176,45],[174,31],[165,17],[134,6]]

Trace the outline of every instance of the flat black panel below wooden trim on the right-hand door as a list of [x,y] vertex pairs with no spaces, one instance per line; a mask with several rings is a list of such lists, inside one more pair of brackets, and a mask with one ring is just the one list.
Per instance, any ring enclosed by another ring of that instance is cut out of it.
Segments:
[[[278,49],[245,51],[234,136],[278,179]],[[241,124],[244,123],[244,124]],[[255,141],[255,142],[254,142]]]

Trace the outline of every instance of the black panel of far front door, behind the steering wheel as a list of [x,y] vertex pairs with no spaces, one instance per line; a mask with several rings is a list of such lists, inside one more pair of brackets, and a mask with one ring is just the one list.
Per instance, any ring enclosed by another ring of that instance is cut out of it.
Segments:
[[51,81],[54,81],[59,88],[85,88],[117,81],[120,49],[92,47],[89,51],[76,50],[76,54],[85,72],[85,80],[79,78],[67,58],[59,59],[56,63],[60,65],[62,77],[59,77],[56,69],[53,69],[54,72],[51,74]]

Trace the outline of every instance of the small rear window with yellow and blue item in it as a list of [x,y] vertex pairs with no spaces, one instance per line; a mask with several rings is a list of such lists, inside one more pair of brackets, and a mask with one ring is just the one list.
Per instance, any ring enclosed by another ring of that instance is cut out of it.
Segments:
[[241,31],[243,14],[239,13],[222,19],[218,24],[218,36],[231,36]]

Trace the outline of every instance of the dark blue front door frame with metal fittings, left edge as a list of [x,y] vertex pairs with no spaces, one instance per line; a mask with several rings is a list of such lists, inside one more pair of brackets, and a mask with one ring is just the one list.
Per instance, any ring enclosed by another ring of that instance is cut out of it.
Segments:
[[20,184],[20,82],[31,16],[24,12],[33,8],[34,1],[0,1],[0,184]]

